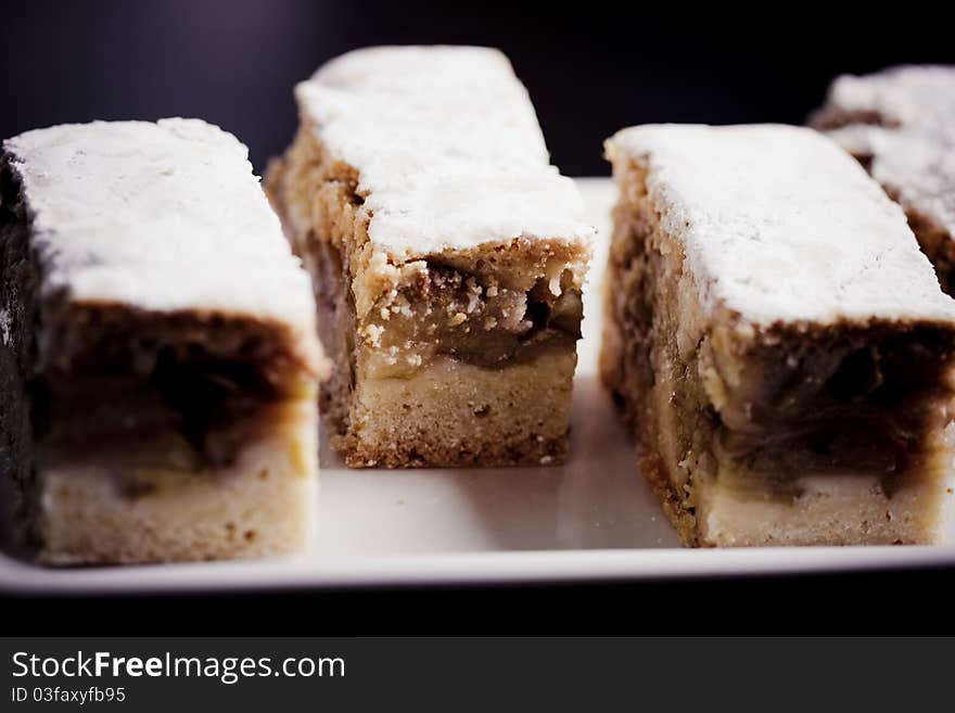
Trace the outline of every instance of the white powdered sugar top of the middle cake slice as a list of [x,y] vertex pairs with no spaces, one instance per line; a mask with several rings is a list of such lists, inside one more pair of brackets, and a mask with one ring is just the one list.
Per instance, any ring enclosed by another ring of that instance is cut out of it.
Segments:
[[360,174],[369,238],[398,259],[513,238],[589,241],[527,91],[498,51],[349,52],[296,87],[306,122]]

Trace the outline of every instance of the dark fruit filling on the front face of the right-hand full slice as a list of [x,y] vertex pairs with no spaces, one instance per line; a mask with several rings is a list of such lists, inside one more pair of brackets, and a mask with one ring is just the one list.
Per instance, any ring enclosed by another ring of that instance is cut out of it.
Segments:
[[879,331],[776,334],[739,358],[705,349],[717,480],[791,498],[806,474],[876,476],[888,497],[937,478],[953,397],[942,378],[950,339],[930,328]]

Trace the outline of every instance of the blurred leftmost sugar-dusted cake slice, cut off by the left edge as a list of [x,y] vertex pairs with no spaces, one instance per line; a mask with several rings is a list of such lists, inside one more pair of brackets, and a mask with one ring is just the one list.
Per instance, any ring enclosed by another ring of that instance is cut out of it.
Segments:
[[22,535],[55,564],[303,550],[327,365],[245,147],[175,118],[2,149],[0,453]]

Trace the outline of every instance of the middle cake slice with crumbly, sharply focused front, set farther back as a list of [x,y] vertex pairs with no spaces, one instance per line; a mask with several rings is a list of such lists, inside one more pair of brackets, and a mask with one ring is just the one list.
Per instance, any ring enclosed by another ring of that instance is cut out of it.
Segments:
[[355,468],[561,461],[593,230],[507,59],[359,50],[295,94],[266,190],[314,277],[334,448]]

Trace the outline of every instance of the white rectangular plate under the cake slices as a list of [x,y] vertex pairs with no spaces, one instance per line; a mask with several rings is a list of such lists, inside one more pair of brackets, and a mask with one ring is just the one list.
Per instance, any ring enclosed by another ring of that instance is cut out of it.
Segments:
[[955,564],[955,547],[678,547],[597,380],[609,179],[581,179],[601,239],[585,298],[572,456],[561,468],[345,470],[322,438],[315,555],[49,570],[0,556],[0,589],[105,594],[791,573]]

